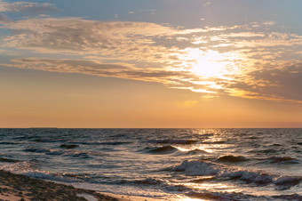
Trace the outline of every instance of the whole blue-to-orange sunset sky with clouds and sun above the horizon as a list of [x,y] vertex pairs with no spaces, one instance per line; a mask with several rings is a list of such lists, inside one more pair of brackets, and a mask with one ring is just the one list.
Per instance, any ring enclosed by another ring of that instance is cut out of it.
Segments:
[[301,0],[0,0],[0,127],[302,127]]

